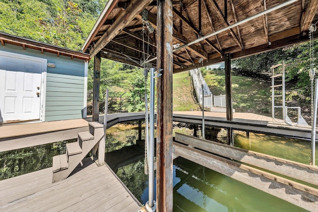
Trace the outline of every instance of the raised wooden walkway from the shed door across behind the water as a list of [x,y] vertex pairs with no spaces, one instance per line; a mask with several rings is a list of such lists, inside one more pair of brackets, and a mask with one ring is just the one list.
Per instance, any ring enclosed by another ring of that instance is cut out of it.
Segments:
[[[289,126],[284,122],[275,122],[271,117],[254,113],[233,113],[233,121],[226,120],[226,113],[204,112],[205,124],[220,128],[250,131],[278,136],[311,139],[310,126]],[[99,116],[103,122],[103,115]],[[144,112],[109,114],[107,128],[115,124],[145,119]],[[79,132],[87,131],[86,119],[41,122],[32,124],[7,125],[0,127],[0,152],[12,149],[36,146],[40,144],[65,141],[77,138]],[[190,124],[202,124],[201,111],[174,111],[173,121]],[[318,133],[316,134],[316,140]]]

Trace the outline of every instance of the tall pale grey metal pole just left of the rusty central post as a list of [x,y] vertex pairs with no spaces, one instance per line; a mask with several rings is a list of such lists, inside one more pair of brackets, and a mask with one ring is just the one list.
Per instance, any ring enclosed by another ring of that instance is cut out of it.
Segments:
[[149,134],[149,201],[154,207],[154,154],[155,154],[155,68],[150,69],[150,134]]

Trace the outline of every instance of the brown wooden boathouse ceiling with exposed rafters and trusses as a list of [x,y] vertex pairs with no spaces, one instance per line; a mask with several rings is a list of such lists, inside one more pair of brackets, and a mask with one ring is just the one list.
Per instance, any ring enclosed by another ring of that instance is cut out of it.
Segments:
[[[173,1],[173,45],[178,48],[288,0],[180,0]],[[154,32],[147,29],[151,25]],[[318,0],[295,2],[238,24],[173,53],[173,72],[219,63],[224,53],[232,59],[309,40],[309,27],[318,21]],[[144,24],[143,24],[144,23]],[[143,33],[144,29],[144,33]],[[109,0],[83,52],[144,67],[144,57],[157,54],[157,1]],[[318,37],[318,30],[314,37]]]

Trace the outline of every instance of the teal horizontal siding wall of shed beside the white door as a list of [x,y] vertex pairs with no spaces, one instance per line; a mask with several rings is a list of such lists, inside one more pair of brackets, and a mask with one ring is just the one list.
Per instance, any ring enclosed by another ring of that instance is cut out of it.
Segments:
[[47,59],[55,68],[47,67],[45,121],[83,117],[85,62],[79,59],[5,44],[0,51]]

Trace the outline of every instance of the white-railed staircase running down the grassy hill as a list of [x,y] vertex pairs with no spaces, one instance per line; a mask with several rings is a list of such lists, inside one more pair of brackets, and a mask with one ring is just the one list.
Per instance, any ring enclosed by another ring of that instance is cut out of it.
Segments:
[[[202,87],[204,90],[204,107],[209,107],[212,109],[213,103],[212,103],[212,93],[209,89],[209,86],[205,82],[201,71],[198,69],[194,69],[190,71],[190,75],[192,76],[193,86],[195,89],[195,93],[197,94],[197,98],[199,101],[199,104],[202,105]],[[202,86],[203,84],[203,86]]]

